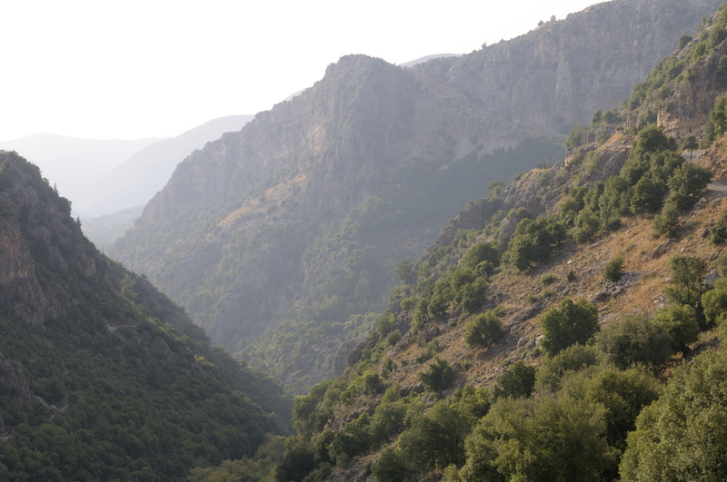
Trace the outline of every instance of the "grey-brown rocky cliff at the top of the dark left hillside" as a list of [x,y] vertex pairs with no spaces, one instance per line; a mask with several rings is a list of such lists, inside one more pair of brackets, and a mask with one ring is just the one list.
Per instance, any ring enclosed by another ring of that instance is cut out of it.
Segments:
[[[37,168],[6,152],[0,152],[0,166],[0,300],[15,316],[40,324],[73,303],[64,283],[46,281],[72,272],[105,276],[96,271],[93,245],[68,218],[70,204],[37,182]],[[43,263],[41,273],[35,256]]]

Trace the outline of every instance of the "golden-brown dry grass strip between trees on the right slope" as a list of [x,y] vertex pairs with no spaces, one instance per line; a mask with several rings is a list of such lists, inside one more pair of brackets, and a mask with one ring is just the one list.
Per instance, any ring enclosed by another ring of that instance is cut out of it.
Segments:
[[[674,240],[656,237],[650,217],[624,220],[623,227],[608,233],[590,244],[565,243],[559,251],[527,273],[517,273],[507,267],[493,277],[488,308],[503,312],[506,335],[497,344],[483,349],[469,349],[464,344],[464,326],[468,317],[459,314],[439,323],[441,334],[436,341],[441,350],[433,355],[446,359],[460,373],[459,385],[493,385],[503,367],[514,360],[525,359],[539,365],[541,358],[535,349],[535,339],[541,334],[539,320],[544,310],[568,297],[585,298],[599,308],[602,326],[636,312],[655,312],[662,306],[662,290],[669,279],[669,259],[676,254],[699,256],[713,264],[719,247],[712,246],[702,231],[712,221],[727,216],[724,198],[712,198],[701,209],[682,216],[682,231]],[[615,256],[625,261],[626,277],[632,280],[620,296],[605,301],[594,297],[608,284],[603,280],[603,265]],[[573,282],[566,280],[568,271],[576,273]],[[552,284],[543,286],[543,275],[552,274]],[[553,293],[543,298],[543,290]],[[535,301],[533,302],[533,299]],[[701,343],[703,343],[701,341]],[[400,367],[393,374],[405,389],[418,389],[418,372],[429,360],[417,363],[427,348],[412,343],[403,352],[389,350],[388,356]],[[681,356],[681,355],[680,355]],[[463,368],[464,367],[464,368]]]

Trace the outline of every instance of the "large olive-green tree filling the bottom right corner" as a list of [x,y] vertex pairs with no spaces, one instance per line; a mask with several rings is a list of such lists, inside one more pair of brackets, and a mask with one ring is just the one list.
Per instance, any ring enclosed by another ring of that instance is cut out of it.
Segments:
[[708,351],[673,374],[627,438],[624,482],[727,480],[727,357]]

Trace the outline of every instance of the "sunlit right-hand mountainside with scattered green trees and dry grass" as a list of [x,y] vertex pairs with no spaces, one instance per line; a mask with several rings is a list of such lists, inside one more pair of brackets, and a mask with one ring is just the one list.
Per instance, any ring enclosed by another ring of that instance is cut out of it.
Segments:
[[727,477],[724,59],[727,4],[400,264],[276,480]]

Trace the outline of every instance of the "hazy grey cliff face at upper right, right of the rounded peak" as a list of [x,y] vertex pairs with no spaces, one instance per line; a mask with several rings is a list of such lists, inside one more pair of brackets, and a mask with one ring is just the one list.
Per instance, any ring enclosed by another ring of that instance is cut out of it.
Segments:
[[[681,34],[721,2],[616,0],[483,50],[413,67],[455,86],[487,119],[539,133],[568,133],[627,99]],[[488,123],[488,127],[489,127]],[[498,136],[502,133],[497,133]]]

